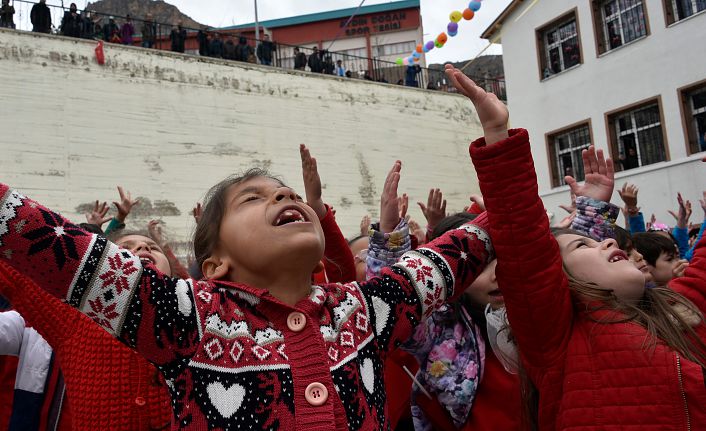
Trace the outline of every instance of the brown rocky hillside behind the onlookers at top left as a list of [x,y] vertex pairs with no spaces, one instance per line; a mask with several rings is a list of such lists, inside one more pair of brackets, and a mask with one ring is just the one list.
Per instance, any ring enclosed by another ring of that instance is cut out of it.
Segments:
[[87,10],[104,15],[114,15],[118,21],[120,17],[130,14],[134,19],[140,19],[151,13],[155,21],[164,24],[176,24],[182,21],[187,28],[200,28],[202,24],[184,15],[179,9],[162,0],[99,0],[88,3]]

